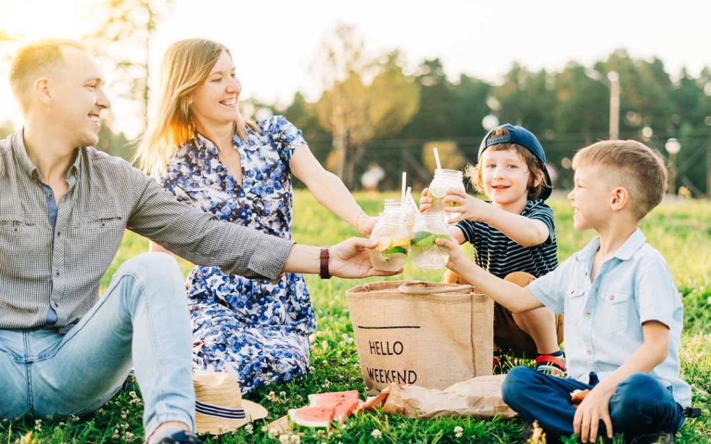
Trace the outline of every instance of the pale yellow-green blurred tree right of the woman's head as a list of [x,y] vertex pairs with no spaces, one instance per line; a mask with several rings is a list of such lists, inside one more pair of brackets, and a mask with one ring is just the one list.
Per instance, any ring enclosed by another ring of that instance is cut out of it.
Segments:
[[338,26],[324,40],[321,53],[326,89],[316,102],[316,115],[333,137],[326,164],[352,188],[365,144],[376,136],[397,134],[407,124],[417,112],[419,88],[402,72],[397,51],[380,60],[365,56],[353,26]]

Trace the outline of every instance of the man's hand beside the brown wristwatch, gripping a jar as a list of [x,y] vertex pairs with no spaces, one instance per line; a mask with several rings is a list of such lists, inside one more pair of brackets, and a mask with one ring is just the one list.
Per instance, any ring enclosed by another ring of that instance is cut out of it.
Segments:
[[350,238],[333,245],[329,250],[328,271],[338,277],[368,277],[392,276],[402,273],[398,271],[375,270],[370,263],[368,249],[378,246],[378,240]]

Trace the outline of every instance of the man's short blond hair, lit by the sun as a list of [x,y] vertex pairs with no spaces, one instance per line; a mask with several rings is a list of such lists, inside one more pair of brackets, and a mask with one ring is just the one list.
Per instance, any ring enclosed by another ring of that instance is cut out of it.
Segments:
[[43,38],[17,51],[10,65],[10,87],[22,112],[30,110],[31,90],[35,80],[54,75],[63,63],[62,48],[86,51],[81,43],[64,38]]

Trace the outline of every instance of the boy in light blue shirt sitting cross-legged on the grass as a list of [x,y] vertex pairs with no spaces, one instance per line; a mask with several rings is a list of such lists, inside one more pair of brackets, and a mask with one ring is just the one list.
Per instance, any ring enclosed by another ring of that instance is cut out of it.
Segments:
[[[504,401],[538,420],[549,442],[572,433],[583,443],[613,432],[641,440],[673,435],[691,403],[679,375],[683,306],[664,258],[638,228],[663,198],[663,160],[639,142],[610,140],[577,152],[573,168],[574,228],[593,229],[598,238],[523,289],[442,240],[447,268],[513,312],[544,305],[565,312],[569,378],[515,367],[503,384]],[[588,389],[575,408],[571,392]]]

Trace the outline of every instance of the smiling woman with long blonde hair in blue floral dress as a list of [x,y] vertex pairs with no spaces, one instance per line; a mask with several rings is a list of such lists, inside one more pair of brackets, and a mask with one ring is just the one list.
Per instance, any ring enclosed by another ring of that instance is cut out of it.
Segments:
[[[250,122],[237,106],[242,86],[220,43],[174,43],[162,63],[156,116],[137,159],[178,201],[216,217],[291,237],[294,174],[316,200],[368,236],[367,216],[282,116]],[[151,245],[155,248],[157,245]],[[187,281],[196,371],[228,371],[243,392],[289,381],[309,369],[316,324],[301,275],[277,282],[193,268]]]

